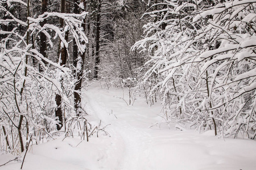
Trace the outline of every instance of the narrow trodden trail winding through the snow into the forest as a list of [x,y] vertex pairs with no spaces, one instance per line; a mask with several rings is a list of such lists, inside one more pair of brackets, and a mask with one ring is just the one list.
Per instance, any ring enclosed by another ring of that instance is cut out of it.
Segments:
[[[118,164],[116,169],[129,170],[146,168],[140,167],[140,164],[147,162],[145,158],[147,158],[149,153],[148,148],[150,148],[151,135],[146,131],[146,129],[148,129],[147,126],[142,128],[130,124],[134,120],[142,120],[144,117],[141,117],[139,114],[131,113],[129,109],[124,113],[122,109],[119,110],[119,108],[127,107],[124,101],[123,105],[119,105],[115,100],[118,101],[120,99],[113,96],[114,100],[108,100],[108,103],[106,103],[107,100],[102,100],[102,97],[104,98],[102,91],[100,93],[97,93],[97,91],[97,88],[87,91],[85,98],[91,107],[90,111],[94,112],[93,116],[97,116],[107,124],[111,124],[108,130],[110,130],[113,141],[116,142],[114,145],[120,145],[120,142],[123,143],[124,148],[121,148],[121,150],[123,150],[123,158],[121,158],[120,164]],[[129,114],[129,117],[122,117],[123,114]],[[142,158],[144,159],[142,160]],[[144,164],[142,165],[144,166]]]

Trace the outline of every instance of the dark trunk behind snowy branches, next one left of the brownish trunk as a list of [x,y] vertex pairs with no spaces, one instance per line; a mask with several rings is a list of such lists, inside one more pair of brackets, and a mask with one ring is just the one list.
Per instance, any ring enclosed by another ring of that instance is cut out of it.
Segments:
[[[42,11],[41,14],[44,14],[44,12],[47,12],[47,0],[42,0]],[[40,26],[43,27],[44,24],[46,24],[46,19],[44,19],[41,23]],[[43,32],[40,32],[40,53],[43,55],[43,57],[46,57],[46,35]],[[44,64],[46,62],[43,60]],[[43,67],[39,64],[39,72],[43,72]]]

